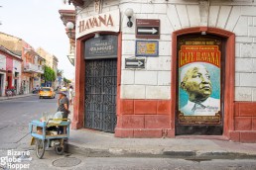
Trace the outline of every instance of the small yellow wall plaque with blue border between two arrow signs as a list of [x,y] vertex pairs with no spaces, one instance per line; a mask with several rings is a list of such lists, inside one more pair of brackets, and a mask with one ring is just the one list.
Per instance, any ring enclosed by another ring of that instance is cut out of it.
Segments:
[[158,56],[159,42],[157,41],[136,41],[136,56]]

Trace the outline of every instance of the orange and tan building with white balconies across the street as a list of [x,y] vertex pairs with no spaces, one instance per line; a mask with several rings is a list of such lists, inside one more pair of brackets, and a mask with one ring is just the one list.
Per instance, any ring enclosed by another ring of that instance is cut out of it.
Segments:
[[21,57],[18,61],[10,58],[6,60],[7,69],[16,70],[13,71],[14,81],[11,83],[9,80],[9,82],[15,87],[17,94],[28,94],[39,87],[44,74],[45,59],[29,43],[5,33],[0,33],[0,44],[6,50]]

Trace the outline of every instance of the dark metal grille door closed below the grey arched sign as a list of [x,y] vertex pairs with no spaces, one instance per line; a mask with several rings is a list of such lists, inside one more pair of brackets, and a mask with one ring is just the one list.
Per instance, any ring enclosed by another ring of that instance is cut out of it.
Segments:
[[114,132],[116,59],[85,61],[85,127]]

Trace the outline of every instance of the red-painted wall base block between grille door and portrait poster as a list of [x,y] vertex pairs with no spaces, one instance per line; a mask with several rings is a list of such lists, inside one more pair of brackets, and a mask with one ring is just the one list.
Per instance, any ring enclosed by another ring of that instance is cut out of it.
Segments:
[[174,137],[171,100],[120,100],[115,136]]

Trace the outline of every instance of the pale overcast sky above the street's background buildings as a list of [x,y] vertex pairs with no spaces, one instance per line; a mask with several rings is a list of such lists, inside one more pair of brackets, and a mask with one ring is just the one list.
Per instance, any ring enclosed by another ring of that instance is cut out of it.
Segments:
[[71,79],[74,67],[66,57],[69,42],[59,13],[62,4],[63,0],[0,0],[0,32],[55,54],[59,69]]

